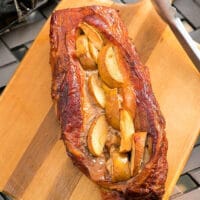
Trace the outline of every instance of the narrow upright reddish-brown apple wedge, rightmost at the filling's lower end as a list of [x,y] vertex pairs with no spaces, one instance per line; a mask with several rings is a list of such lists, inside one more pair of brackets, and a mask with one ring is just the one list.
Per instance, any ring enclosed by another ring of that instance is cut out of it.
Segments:
[[145,142],[146,142],[147,132],[137,132],[134,134],[135,142],[135,160],[134,160],[134,171],[133,175],[136,175],[141,170],[141,165],[144,158]]

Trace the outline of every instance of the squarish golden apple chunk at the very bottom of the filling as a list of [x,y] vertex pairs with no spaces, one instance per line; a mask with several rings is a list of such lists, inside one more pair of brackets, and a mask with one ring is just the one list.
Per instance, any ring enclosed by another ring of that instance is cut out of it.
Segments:
[[112,158],[112,181],[124,181],[130,178],[130,167],[128,155],[114,151],[111,153]]

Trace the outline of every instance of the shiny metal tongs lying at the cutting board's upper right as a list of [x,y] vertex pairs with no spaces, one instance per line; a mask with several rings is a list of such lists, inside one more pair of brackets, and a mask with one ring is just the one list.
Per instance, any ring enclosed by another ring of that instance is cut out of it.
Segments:
[[172,7],[169,0],[151,0],[157,13],[170,26],[182,47],[200,71],[200,50],[185,30],[181,20],[176,17],[176,9]]

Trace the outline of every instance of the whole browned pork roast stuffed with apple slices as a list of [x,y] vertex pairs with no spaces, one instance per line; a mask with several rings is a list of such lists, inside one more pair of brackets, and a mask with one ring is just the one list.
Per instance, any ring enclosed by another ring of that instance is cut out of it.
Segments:
[[74,165],[103,199],[162,199],[165,120],[118,12],[58,10],[50,25],[52,99]]

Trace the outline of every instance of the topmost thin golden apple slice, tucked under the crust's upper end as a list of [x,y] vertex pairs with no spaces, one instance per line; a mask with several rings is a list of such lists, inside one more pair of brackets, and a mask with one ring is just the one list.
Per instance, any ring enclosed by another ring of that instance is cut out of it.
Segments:
[[83,30],[94,46],[100,50],[103,46],[103,39],[99,31],[85,22],[79,24],[79,27]]

